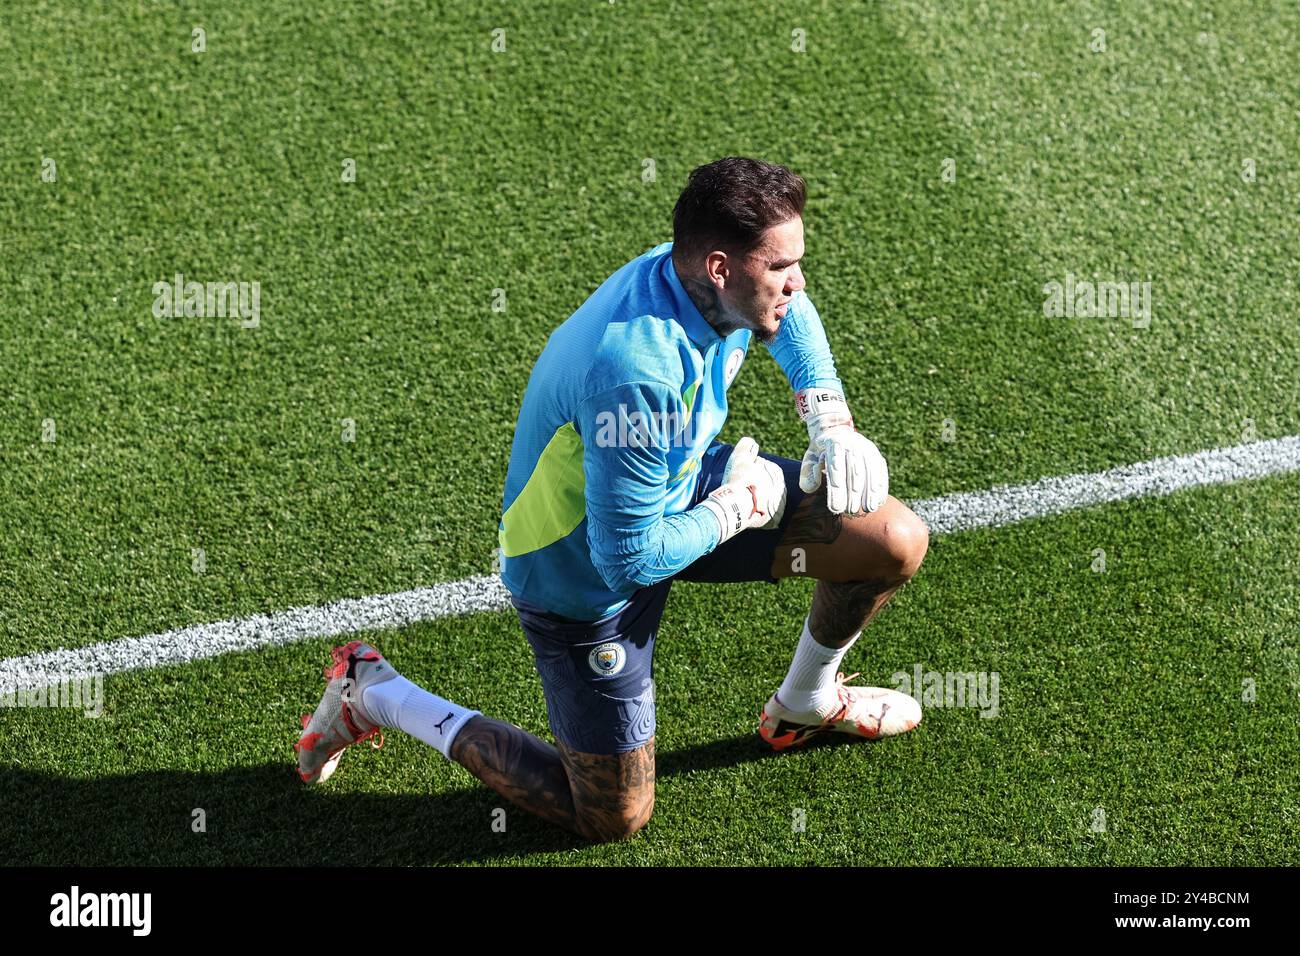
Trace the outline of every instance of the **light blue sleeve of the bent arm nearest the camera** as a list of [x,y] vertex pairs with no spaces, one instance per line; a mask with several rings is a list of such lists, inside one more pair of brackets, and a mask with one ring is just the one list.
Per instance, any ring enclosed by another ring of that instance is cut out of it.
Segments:
[[632,382],[586,398],[576,416],[586,484],[586,541],[606,585],[630,593],[671,578],[718,546],[706,509],[664,516],[668,449],[684,421],[681,395]]

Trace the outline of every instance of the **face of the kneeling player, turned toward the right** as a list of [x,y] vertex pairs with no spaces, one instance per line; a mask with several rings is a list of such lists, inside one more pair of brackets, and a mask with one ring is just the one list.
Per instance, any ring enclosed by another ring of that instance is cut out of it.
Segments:
[[750,329],[759,342],[776,338],[790,297],[805,285],[802,258],[803,220],[798,216],[770,226],[749,255],[728,256],[725,282],[718,291],[724,326],[719,333]]

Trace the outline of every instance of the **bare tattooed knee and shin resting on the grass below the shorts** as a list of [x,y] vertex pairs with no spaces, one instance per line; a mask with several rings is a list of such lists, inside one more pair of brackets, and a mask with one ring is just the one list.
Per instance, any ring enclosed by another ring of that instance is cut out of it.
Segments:
[[456,734],[451,758],[516,806],[586,839],[627,835],[654,809],[653,737],[630,753],[578,753],[480,714]]

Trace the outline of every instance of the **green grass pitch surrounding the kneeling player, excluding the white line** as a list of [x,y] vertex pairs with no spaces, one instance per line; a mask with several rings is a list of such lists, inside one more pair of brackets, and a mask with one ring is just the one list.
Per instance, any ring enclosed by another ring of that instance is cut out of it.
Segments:
[[[809,294],[904,501],[1300,433],[1297,36],[1228,0],[6,5],[0,658],[488,574],[546,336],[729,153],[807,179]],[[156,317],[176,273],[257,281],[257,326]],[[1149,328],[1044,316],[1067,273],[1149,281]],[[720,437],[798,457],[751,355]],[[809,583],[676,585],[621,844],[495,832],[396,732],[306,790],[315,640],[0,710],[0,857],[1296,865],[1296,502],[936,537],[845,663],[997,672],[998,711],[879,745],[754,734]],[[547,736],[512,614],[369,637]]]

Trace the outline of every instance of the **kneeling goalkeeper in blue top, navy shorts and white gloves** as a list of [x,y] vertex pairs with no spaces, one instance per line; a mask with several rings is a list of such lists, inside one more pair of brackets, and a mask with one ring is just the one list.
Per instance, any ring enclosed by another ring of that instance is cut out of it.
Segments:
[[[303,718],[304,780],[396,727],[588,839],[636,832],[654,806],[653,654],[673,581],[816,579],[789,672],[759,715],[775,749],[916,726],[915,700],[838,670],[916,572],[928,532],[889,497],[884,458],[854,428],[803,291],[805,198],[798,176],[759,160],[693,170],[673,241],[606,280],[533,368],[499,544],[555,745],[412,684],[352,641],[334,650],[325,696]],[[807,425],[802,460],[759,454],[748,437],[716,441],[755,338]]]

